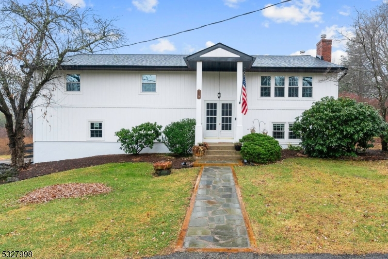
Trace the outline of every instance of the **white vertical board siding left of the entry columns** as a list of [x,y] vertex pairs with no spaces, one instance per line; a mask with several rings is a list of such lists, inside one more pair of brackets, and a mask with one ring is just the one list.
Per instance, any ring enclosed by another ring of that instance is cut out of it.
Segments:
[[[34,108],[34,162],[120,154],[122,151],[118,149],[114,132],[121,128],[147,121],[164,127],[173,121],[195,118],[195,72],[65,73],[81,74],[81,93],[65,93],[63,77],[54,92],[57,104],[47,109],[43,106]],[[157,75],[158,94],[141,94],[142,74]],[[103,121],[104,140],[91,141],[88,138],[89,120]],[[76,142],[79,143],[74,144]],[[69,143],[73,145],[69,146]],[[115,148],[117,150],[113,151]],[[153,150],[145,150],[162,151],[168,151],[163,144],[157,144]]]

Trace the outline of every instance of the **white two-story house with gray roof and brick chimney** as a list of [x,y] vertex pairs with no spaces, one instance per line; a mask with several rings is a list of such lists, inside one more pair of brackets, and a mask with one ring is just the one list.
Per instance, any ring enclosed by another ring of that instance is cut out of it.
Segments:
[[[254,125],[286,146],[295,117],[324,96],[331,40],[317,57],[252,56],[218,43],[192,55],[72,56],[58,71],[56,103],[33,109],[34,162],[121,154],[114,132],[143,122],[196,119],[195,142],[236,142]],[[248,112],[241,113],[243,70]],[[46,114],[46,116],[44,116]],[[259,123],[260,122],[260,123]],[[168,152],[162,143],[143,152]]]

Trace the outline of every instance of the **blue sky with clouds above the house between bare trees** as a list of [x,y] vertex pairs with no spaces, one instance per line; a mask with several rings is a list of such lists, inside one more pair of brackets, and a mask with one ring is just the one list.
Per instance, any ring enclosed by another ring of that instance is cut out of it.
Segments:
[[[116,23],[129,43],[177,33],[254,11],[280,0],[65,0],[92,7]],[[251,55],[315,55],[320,35],[337,39],[355,17],[383,0],[291,0],[275,7],[169,38],[117,50],[124,54],[191,54],[222,42]],[[333,42],[333,62],[344,54],[344,42]]]

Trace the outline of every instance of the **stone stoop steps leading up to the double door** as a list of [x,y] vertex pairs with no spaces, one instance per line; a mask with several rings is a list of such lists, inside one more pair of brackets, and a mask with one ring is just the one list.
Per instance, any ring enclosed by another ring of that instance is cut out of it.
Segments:
[[240,151],[234,149],[233,143],[209,143],[209,146],[205,155],[194,161],[194,166],[242,165]]

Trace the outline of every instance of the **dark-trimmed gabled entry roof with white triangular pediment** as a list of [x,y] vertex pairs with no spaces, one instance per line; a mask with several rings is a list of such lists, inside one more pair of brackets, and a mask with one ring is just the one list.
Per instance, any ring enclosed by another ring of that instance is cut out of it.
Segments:
[[190,70],[196,70],[196,62],[202,61],[203,71],[236,71],[237,61],[242,61],[243,68],[248,70],[252,67],[256,57],[217,43],[183,59]]

